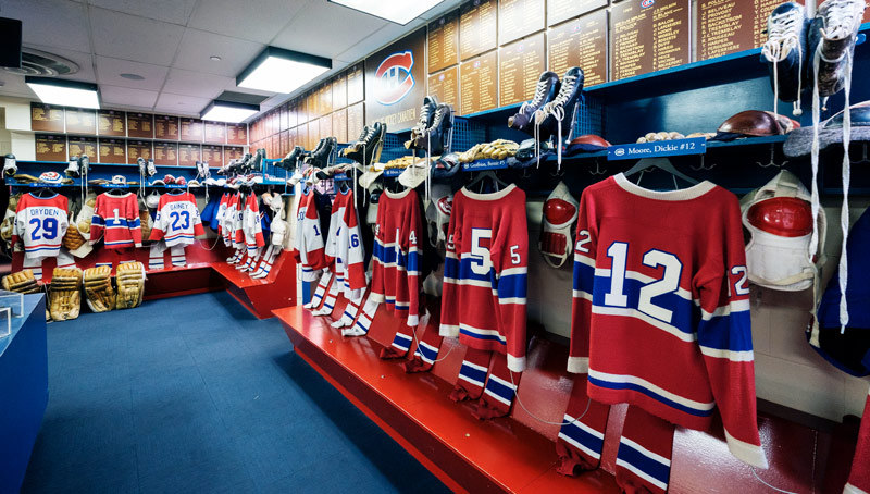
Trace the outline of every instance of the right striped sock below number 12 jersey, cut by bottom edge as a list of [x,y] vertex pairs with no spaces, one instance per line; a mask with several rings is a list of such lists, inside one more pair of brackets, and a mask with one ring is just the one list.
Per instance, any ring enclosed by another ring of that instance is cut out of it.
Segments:
[[629,494],[663,494],[671,478],[674,424],[630,406],[617,453],[617,484]]

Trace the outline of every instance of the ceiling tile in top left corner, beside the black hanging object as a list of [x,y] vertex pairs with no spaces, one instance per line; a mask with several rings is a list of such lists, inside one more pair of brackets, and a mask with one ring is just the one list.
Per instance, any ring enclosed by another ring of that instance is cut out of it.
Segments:
[[20,18],[25,45],[90,52],[85,7],[67,0],[3,0],[3,17]]

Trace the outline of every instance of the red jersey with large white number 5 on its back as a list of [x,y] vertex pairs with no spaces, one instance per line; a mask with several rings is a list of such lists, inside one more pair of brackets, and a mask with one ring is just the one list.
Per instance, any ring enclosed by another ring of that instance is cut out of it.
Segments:
[[529,227],[525,193],[515,185],[494,194],[462,188],[447,230],[442,336],[472,348],[507,354],[508,368],[525,369]]

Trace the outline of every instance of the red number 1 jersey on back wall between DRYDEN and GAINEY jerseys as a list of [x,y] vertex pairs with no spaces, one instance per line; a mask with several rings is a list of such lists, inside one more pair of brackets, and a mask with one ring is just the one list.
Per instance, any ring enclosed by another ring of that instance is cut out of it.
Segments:
[[122,196],[104,193],[97,196],[90,222],[90,244],[96,244],[101,237],[104,237],[107,249],[142,246],[139,202],[133,193]]

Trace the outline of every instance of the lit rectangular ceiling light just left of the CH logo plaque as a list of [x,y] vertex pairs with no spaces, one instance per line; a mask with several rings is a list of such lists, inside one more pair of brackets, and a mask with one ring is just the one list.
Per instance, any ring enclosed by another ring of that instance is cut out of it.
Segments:
[[333,67],[323,57],[266,47],[238,77],[236,86],[270,92],[293,92]]

